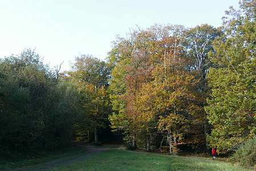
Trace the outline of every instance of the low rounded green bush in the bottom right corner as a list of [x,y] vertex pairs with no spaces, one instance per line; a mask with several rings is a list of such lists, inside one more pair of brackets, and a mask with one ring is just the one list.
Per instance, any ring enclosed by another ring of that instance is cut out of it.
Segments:
[[245,167],[256,166],[256,137],[243,143],[231,159]]

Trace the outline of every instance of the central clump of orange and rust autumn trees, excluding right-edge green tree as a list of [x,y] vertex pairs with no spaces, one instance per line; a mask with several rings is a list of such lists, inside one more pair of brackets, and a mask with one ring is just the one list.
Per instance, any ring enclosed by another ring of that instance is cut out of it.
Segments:
[[109,80],[112,128],[147,150],[168,145],[177,153],[179,144],[206,144],[205,75],[210,43],[218,34],[208,25],[155,25],[118,38],[108,56],[116,64]]

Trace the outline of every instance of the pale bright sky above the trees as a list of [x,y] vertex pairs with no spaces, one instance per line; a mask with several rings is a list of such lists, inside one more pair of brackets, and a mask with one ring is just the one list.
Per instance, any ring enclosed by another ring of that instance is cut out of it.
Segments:
[[222,25],[239,0],[0,0],[0,58],[35,48],[52,68],[70,70],[75,56],[104,60],[116,35],[155,23]]

